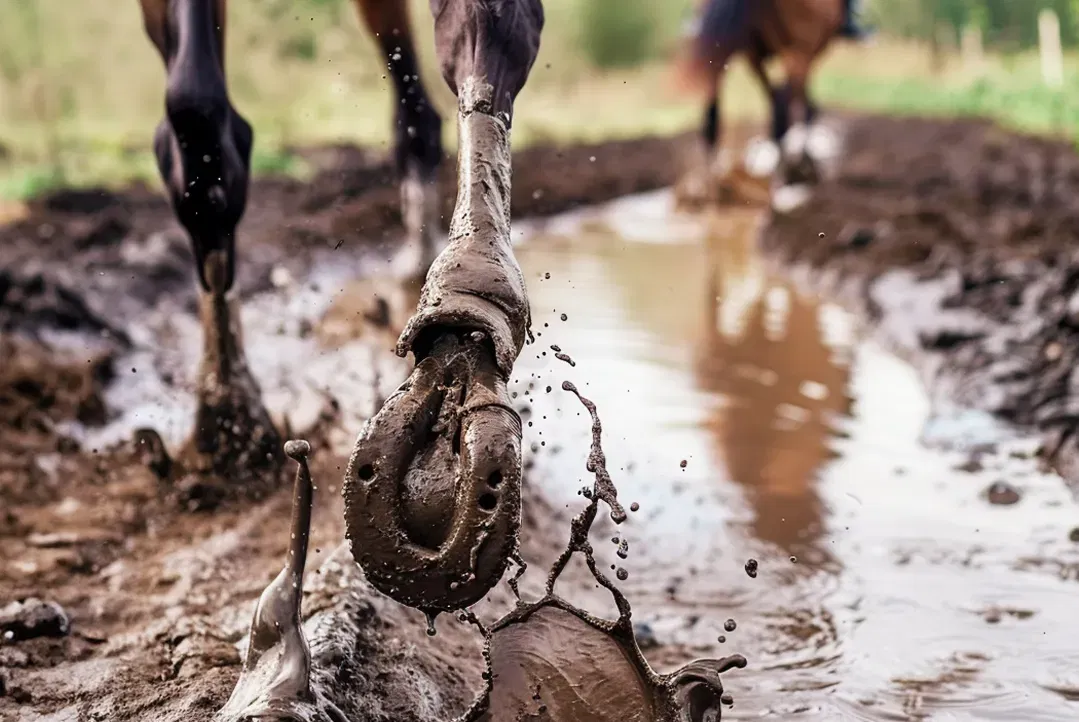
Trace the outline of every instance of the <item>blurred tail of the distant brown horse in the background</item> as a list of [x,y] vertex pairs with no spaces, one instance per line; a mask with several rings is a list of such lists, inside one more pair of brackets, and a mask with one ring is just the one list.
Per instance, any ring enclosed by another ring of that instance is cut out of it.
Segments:
[[711,92],[722,66],[749,40],[754,1],[706,0],[687,32],[689,46],[679,67],[684,85]]

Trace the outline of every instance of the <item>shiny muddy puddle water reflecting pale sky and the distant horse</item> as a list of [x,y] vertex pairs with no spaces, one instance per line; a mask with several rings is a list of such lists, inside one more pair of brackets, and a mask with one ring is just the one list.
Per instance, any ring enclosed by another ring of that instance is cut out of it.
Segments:
[[[530,478],[579,505],[571,380],[603,413],[619,500],[640,505],[604,529],[627,559],[597,546],[628,572],[650,658],[745,654],[725,719],[1075,719],[1061,630],[1079,506],[1033,445],[934,412],[909,366],[753,255],[752,213],[688,223],[668,206],[620,202],[519,248],[538,337],[515,386]],[[998,480],[1021,501],[986,501]]]

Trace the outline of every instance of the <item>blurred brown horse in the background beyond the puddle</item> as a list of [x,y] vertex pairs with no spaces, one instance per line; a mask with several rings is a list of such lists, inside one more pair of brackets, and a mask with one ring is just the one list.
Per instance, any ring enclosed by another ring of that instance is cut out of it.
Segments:
[[[829,43],[845,33],[849,0],[706,0],[691,52],[682,65],[684,79],[708,98],[701,125],[705,146],[713,154],[721,142],[720,94],[727,63],[741,53],[771,103],[771,138],[779,144],[793,126],[808,126],[817,109],[808,95],[809,73]],[[773,57],[787,72],[787,84],[774,87],[765,70]],[[788,173],[811,167],[805,146],[795,150]],[[793,178],[789,178],[793,179]]]

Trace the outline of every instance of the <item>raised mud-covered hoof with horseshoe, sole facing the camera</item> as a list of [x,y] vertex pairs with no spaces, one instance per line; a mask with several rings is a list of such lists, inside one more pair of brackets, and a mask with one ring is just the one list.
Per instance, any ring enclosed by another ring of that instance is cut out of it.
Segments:
[[479,601],[521,518],[521,422],[481,333],[448,333],[365,425],[345,527],[368,581],[428,613]]

